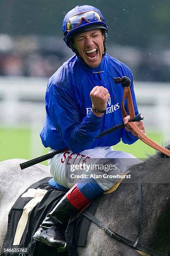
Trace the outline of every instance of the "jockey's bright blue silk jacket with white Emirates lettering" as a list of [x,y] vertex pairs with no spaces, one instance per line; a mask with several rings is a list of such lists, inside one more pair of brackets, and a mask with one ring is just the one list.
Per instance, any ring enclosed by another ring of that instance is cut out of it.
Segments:
[[[127,132],[125,128],[95,140],[100,132],[122,123],[120,105],[123,88],[121,84],[113,82],[113,77],[122,76],[131,80],[130,89],[137,115],[133,75],[125,64],[108,54],[96,68],[87,66],[77,56],[67,60],[47,84],[46,118],[40,132],[42,144],[57,150],[70,148],[74,153],[80,153],[97,146],[116,145],[121,139],[128,144],[137,141],[138,137]],[[90,92],[96,85],[102,85],[110,93],[107,109],[101,118],[91,111]],[[125,109],[128,113],[126,101]]]

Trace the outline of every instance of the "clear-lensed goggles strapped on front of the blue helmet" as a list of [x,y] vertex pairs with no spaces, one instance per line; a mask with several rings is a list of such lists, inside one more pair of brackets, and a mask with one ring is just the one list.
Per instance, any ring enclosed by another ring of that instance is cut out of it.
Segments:
[[85,11],[83,13],[77,13],[67,20],[66,31],[68,32],[73,28],[80,26],[82,24],[82,20],[85,20],[87,23],[103,21],[100,14],[94,10]]

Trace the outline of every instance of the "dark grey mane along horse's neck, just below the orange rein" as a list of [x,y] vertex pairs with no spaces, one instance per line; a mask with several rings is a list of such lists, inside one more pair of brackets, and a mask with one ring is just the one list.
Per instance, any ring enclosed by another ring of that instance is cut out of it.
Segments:
[[[170,144],[165,146],[168,150],[170,150]],[[157,168],[161,164],[165,163],[165,159],[167,161],[170,160],[170,157],[163,154],[160,151],[157,151],[156,154],[154,155],[149,155],[148,158],[145,159],[145,161],[139,163],[139,164],[134,164],[133,166],[130,166],[128,168],[128,171],[130,174],[133,176],[143,176],[149,172],[151,172],[153,169]]]

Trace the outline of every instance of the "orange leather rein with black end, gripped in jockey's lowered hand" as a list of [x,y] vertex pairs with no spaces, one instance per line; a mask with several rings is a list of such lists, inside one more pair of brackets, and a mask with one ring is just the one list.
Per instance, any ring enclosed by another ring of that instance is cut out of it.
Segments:
[[[125,80],[125,81],[124,81]],[[120,82],[118,82],[120,81]],[[122,82],[121,82],[122,81]],[[114,78],[115,83],[121,83],[123,87],[123,97],[122,97],[122,102],[121,102],[121,110],[122,110],[122,116],[125,118],[128,114],[126,113],[125,107],[124,107],[124,101],[125,98],[127,98],[127,103],[128,103],[128,109],[129,109],[129,114],[130,118],[135,117],[135,110],[133,106],[133,100],[132,100],[132,95],[130,92],[130,79],[127,77],[116,77]],[[148,136],[146,136],[139,128],[138,126],[133,123],[129,122],[128,125],[130,125],[131,128],[140,136],[140,140],[146,143],[148,146],[162,152],[163,154],[170,156],[170,150],[167,148],[164,148],[163,146],[160,146],[158,143],[155,141],[151,140]]]

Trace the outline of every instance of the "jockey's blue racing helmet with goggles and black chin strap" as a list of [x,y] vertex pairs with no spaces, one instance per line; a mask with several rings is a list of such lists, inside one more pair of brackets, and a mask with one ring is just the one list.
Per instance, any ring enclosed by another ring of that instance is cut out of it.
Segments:
[[77,54],[77,50],[72,44],[72,38],[78,33],[100,28],[104,31],[104,55],[106,52],[106,41],[108,27],[100,10],[91,5],[77,5],[70,10],[63,20],[62,31],[64,41],[68,47]]

